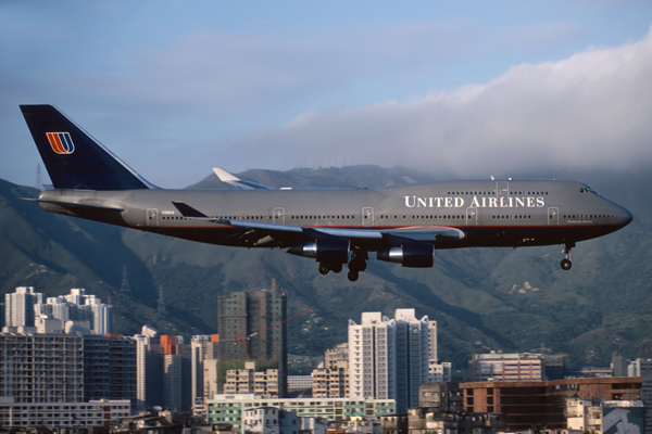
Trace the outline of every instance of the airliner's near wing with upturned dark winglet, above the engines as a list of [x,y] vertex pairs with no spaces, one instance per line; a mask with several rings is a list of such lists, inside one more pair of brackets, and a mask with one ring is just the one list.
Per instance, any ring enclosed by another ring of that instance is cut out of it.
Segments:
[[[386,240],[389,244],[410,241],[417,242],[429,242],[434,243],[442,240],[462,240],[466,234],[460,229],[441,227],[441,226],[428,226],[428,227],[413,227],[413,228],[398,228],[398,229],[346,229],[346,228],[313,228],[313,227],[301,227],[301,226],[289,226],[278,224],[265,224],[249,220],[237,220],[237,219],[220,219],[211,218],[203,213],[195,209],[190,205],[184,202],[173,201],[174,206],[181,213],[184,217],[190,217],[196,219],[203,219],[216,225],[231,226],[236,228],[250,229],[255,231],[260,235],[260,240],[265,241],[275,240],[287,240],[288,238],[301,239],[301,238],[321,238],[321,237],[336,237],[348,240]],[[301,237],[303,234],[303,237]],[[293,235],[293,237],[292,237]],[[297,237],[299,235],[299,237]],[[259,241],[260,241],[259,240]],[[255,245],[262,245],[260,242]]]

